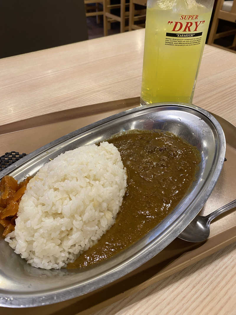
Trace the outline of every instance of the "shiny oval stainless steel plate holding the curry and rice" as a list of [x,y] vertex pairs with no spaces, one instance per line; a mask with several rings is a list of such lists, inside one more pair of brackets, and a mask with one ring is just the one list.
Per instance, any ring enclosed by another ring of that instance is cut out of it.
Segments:
[[217,120],[203,109],[183,104],[142,106],[81,128],[30,153],[0,173],[23,180],[62,152],[102,141],[130,129],[162,129],[197,146],[201,163],[191,191],[158,226],[113,258],[89,270],[31,267],[0,240],[0,306],[29,307],[83,295],[131,272],[164,249],[197,215],[221,172],[225,137]]

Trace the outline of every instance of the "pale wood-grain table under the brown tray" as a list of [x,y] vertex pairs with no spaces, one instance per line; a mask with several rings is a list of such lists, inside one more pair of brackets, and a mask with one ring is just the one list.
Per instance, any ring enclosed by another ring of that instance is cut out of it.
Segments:
[[[1,59],[0,125],[140,95],[143,42],[138,30]],[[236,55],[206,45],[194,104],[236,125],[235,79]],[[235,314],[235,256],[233,244],[96,314]]]

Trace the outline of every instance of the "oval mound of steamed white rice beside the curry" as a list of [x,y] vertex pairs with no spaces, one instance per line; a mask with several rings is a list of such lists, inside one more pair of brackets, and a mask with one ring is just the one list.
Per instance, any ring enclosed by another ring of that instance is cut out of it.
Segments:
[[113,144],[65,152],[29,181],[15,231],[5,240],[34,267],[64,267],[114,224],[125,187],[126,170]]

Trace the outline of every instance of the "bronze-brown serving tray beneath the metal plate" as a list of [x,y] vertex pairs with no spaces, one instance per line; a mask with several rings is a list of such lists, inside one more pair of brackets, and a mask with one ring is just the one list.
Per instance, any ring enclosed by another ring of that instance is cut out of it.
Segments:
[[[83,127],[88,123],[95,122],[101,118],[138,106],[139,99],[129,99],[109,102],[99,105],[80,107],[79,109],[65,110],[56,114],[47,114],[33,119],[4,125],[1,127],[0,154],[15,150],[19,152],[32,152],[40,146],[45,145],[62,135],[75,129]],[[208,214],[214,209],[233,200],[235,195],[235,170],[233,161],[236,156],[235,128],[220,117],[216,117],[221,123],[227,141],[226,158],[220,179],[216,184],[211,197],[208,199],[202,214]],[[29,129],[30,128],[30,129]],[[49,132],[50,131],[50,132]],[[35,136],[35,137],[34,137]],[[31,141],[33,139],[33,141]],[[176,239],[166,247],[160,254],[139,267],[132,273],[107,285],[73,300],[57,303],[51,306],[34,308],[34,313],[44,312],[45,314],[59,314],[61,312],[76,314],[93,307],[104,307],[108,303],[117,301],[139,289],[167,277],[170,274],[183,269],[185,266],[212,254],[216,250],[236,240],[236,222],[233,220],[234,212],[228,212],[222,220],[214,221],[211,224],[210,238],[202,245],[185,243]],[[123,293],[125,291],[125,293]],[[100,305],[98,306],[98,303]],[[101,304],[102,303],[102,304]],[[2,314],[11,314],[13,309],[0,309]],[[17,310],[18,314],[24,314],[31,308]],[[92,312],[92,309],[87,311]],[[14,312],[13,312],[14,313]]]

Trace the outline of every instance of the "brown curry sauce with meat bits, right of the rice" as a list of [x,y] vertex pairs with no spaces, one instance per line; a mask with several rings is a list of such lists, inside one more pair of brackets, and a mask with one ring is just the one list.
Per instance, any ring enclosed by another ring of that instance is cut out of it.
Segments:
[[196,147],[159,130],[132,130],[106,141],[121,154],[127,190],[115,224],[67,268],[110,258],[152,230],[188,192],[201,160]]

